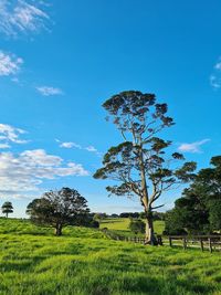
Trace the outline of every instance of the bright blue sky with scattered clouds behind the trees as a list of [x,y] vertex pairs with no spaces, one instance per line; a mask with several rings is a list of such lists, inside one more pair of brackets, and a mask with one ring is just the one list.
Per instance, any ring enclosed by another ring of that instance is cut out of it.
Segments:
[[[49,189],[76,188],[93,211],[141,210],[94,180],[122,138],[102,103],[155,93],[175,118],[175,150],[207,167],[220,155],[221,3],[0,0],[0,204],[24,217]],[[166,209],[179,191],[162,196]]]

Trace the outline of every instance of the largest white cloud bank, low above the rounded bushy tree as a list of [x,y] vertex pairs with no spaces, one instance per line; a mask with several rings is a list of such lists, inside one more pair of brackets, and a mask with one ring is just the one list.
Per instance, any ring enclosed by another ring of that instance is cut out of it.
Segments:
[[24,150],[19,155],[0,154],[0,192],[22,196],[38,190],[46,179],[66,176],[87,176],[82,165],[67,162],[43,149]]

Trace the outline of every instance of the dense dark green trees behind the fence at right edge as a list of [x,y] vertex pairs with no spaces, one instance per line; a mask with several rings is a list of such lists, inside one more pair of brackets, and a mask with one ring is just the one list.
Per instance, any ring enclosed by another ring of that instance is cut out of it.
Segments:
[[211,158],[211,167],[201,169],[185,189],[175,208],[167,213],[166,231],[211,233],[221,230],[221,156]]

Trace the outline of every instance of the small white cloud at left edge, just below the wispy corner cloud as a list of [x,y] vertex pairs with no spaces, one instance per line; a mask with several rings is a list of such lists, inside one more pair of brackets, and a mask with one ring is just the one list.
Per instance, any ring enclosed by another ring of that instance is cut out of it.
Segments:
[[15,75],[23,64],[21,57],[0,51],[0,76]]

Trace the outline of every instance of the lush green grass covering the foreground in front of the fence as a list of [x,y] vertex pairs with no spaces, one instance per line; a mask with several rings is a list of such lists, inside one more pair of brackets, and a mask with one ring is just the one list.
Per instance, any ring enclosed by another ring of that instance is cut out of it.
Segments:
[[0,219],[1,295],[221,294],[221,255],[109,240],[67,228],[63,236]]

